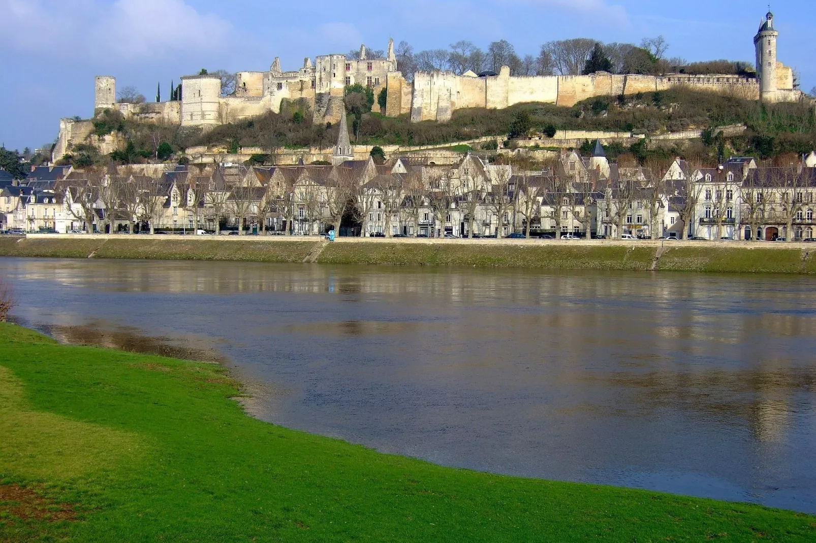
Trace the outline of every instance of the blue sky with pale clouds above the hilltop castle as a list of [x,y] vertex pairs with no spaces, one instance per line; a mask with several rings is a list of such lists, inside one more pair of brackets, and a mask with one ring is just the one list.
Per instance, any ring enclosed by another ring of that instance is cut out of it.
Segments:
[[[816,2],[772,5],[778,60],[816,86]],[[565,38],[640,43],[663,35],[668,57],[753,61],[766,0],[0,0],[0,144],[22,150],[53,142],[61,117],[91,117],[94,77],[162,85],[201,68],[284,70],[304,57],[345,53],[388,38],[415,51],[465,39],[507,39],[520,55]]]

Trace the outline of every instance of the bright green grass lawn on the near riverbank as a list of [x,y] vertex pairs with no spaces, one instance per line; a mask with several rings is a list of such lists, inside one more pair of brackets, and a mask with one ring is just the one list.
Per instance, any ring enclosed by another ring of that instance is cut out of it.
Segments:
[[0,324],[0,541],[816,541],[805,514],[379,454],[237,393]]

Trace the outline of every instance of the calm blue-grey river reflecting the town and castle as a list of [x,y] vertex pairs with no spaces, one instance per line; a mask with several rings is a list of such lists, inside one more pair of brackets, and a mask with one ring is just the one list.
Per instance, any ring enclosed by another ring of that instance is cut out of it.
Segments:
[[816,513],[816,280],[0,258],[20,324],[219,360],[283,426]]

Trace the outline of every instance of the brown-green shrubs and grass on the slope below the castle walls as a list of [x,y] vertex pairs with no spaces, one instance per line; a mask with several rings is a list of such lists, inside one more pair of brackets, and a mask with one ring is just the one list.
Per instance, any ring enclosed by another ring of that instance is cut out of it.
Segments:
[[[783,153],[804,153],[816,148],[816,121],[809,104],[763,105],[756,100],[676,88],[664,92],[617,98],[594,98],[572,108],[553,104],[517,104],[506,109],[471,108],[456,111],[449,122],[411,123],[407,116],[384,117],[361,113],[347,97],[357,144],[443,145],[468,139],[495,136],[501,145],[508,136],[551,136],[557,130],[615,130],[657,135],[690,129],[709,129],[702,145],[612,148],[612,156],[633,152],[645,160],[650,152],[667,156],[700,158],[706,161],[731,154],[757,158]],[[744,124],[744,135],[717,139],[710,129]],[[65,161],[78,166],[104,163],[169,159],[173,152],[193,146],[221,146],[228,152],[259,147],[268,152],[279,148],[326,148],[337,138],[337,126],[313,125],[305,104],[286,103],[282,113],[267,113],[202,133],[177,126],[156,126],[122,119],[106,112],[95,120],[97,134],[119,131],[128,142],[111,157],[100,157],[90,146],[78,146]],[[508,143],[509,145],[509,143]]]

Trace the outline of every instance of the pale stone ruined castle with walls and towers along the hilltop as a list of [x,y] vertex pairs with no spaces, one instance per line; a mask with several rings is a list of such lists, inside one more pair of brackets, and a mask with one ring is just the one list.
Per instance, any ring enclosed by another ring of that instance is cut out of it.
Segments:
[[[768,13],[754,38],[756,77],[740,75],[694,76],[672,73],[663,76],[595,73],[587,76],[513,77],[504,66],[498,75],[447,71],[419,72],[413,81],[397,70],[393,40],[385,58],[368,58],[361,46],[357,59],[346,55],[317,56],[314,64],[284,72],[276,57],[268,72],[238,72],[233,94],[221,95],[220,77],[209,74],[181,77],[180,99],[149,104],[119,104],[116,79],[96,77],[94,113],[104,109],[142,121],[160,121],[203,129],[242,121],[264,113],[280,113],[284,100],[302,99],[312,109],[315,122],[337,122],[343,111],[344,88],[359,83],[375,96],[386,90],[385,115],[410,115],[413,122],[448,121],[461,108],[508,108],[524,102],[543,102],[570,107],[596,96],[636,95],[688,86],[703,91],[738,95],[765,102],[796,101],[793,71],[777,61],[774,15]],[[374,105],[375,111],[379,104]],[[54,149],[59,159],[74,143],[90,137],[92,125],[63,119]],[[115,145],[115,143],[110,143]]]

